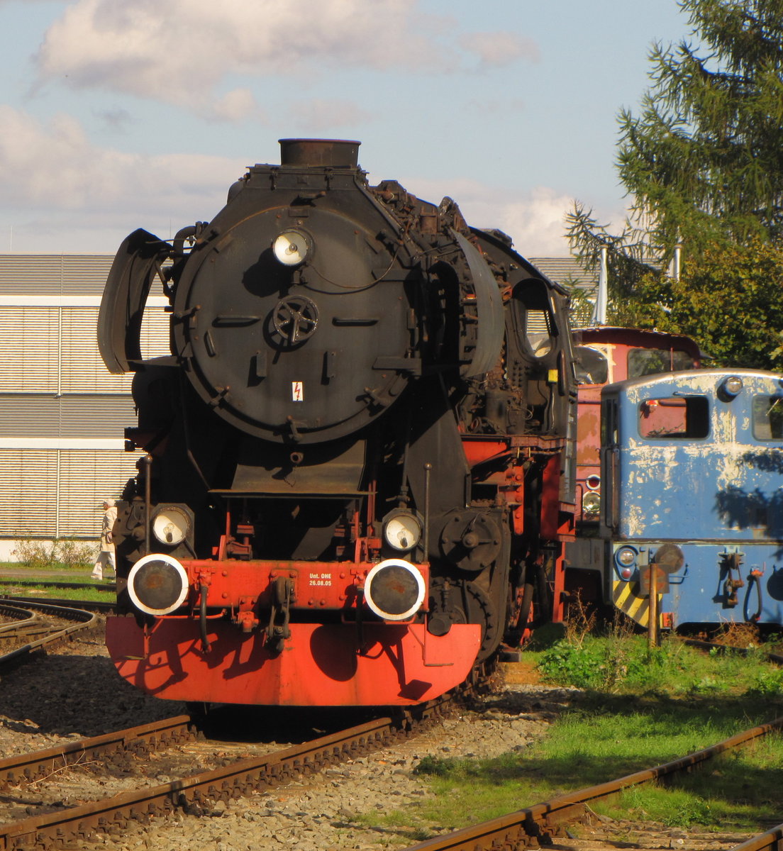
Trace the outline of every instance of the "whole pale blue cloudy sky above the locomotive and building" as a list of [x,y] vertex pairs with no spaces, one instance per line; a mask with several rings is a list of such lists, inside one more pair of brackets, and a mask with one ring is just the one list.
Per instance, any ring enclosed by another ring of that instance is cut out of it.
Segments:
[[302,137],[567,256],[574,200],[620,230],[618,112],[688,32],[676,0],[0,0],[0,254],[169,238]]

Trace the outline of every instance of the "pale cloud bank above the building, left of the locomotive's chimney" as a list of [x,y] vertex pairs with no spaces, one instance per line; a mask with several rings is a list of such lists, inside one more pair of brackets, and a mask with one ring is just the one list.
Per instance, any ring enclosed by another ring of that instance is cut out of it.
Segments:
[[[75,118],[62,114],[39,123],[0,105],[0,126],[0,214],[14,224],[18,251],[115,250],[129,231],[168,225],[169,217],[179,230],[217,213],[228,186],[243,173],[243,163],[225,157],[100,148]],[[111,243],[96,237],[104,231],[111,232]],[[60,242],[63,234],[80,234],[83,248],[72,242],[36,247],[33,238],[45,240],[47,233],[60,234]],[[24,234],[26,242],[20,241]]]

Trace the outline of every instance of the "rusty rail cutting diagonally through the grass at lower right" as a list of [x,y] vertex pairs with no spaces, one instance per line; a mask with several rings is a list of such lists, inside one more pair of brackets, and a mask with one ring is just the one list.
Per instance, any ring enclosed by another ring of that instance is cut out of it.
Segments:
[[[667,774],[676,774],[694,768],[712,757],[734,747],[745,745],[747,742],[758,739],[783,728],[783,717],[776,718],[769,724],[754,727],[738,733],[734,736],[718,742],[717,745],[695,751],[686,757],[666,762],[655,768],[647,768],[628,774],[618,780],[609,780],[595,786],[589,786],[580,791],[570,792],[567,795],[552,798],[535,804],[533,807],[519,809],[514,813],[502,815],[497,819],[485,821],[480,825],[463,828],[445,836],[434,837],[418,845],[411,846],[408,851],[489,851],[491,848],[523,848],[537,846],[540,837],[549,841],[553,834],[557,833],[560,825],[580,818],[586,810],[588,802],[596,801],[598,798],[614,795],[631,786],[648,783],[657,780]],[[760,851],[766,845],[757,848],[745,848],[742,851]],[[780,851],[780,848],[775,849]]]

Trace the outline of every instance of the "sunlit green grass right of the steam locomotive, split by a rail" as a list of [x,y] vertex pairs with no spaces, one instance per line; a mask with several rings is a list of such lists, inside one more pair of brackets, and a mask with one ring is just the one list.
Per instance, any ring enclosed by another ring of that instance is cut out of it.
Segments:
[[[783,673],[764,660],[704,654],[676,638],[553,632],[526,662],[557,684],[586,690],[522,751],[494,759],[425,757],[417,773],[435,793],[419,805],[358,814],[404,844],[508,814],[567,791],[669,762],[783,716]],[[592,804],[599,814],[701,831],[759,831],[781,820],[783,738],[766,737],[677,780],[633,787]]]

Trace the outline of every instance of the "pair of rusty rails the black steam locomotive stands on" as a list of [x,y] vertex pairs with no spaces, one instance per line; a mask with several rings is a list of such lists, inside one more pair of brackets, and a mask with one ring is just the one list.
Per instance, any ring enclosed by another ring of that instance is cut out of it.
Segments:
[[[429,728],[437,717],[450,711],[457,696],[416,707],[397,718],[377,718],[336,733],[320,736],[283,750],[240,759],[198,774],[169,782],[124,791],[74,807],[49,812],[0,826],[0,851],[59,848],[69,842],[92,842],[96,834],[123,831],[134,820],[146,822],[175,811],[203,814],[219,802],[288,783],[303,774],[314,774],[347,759],[362,757],[376,748]],[[461,699],[461,695],[460,695]],[[152,750],[195,735],[191,718],[174,717],[166,722],[129,728],[96,739],[71,743],[0,762],[0,788],[29,785],[56,772],[96,762],[110,763],[117,755],[145,756]],[[197,759],[195,760],[197,762]],[[192,762],[191,762],[192,764]]]

